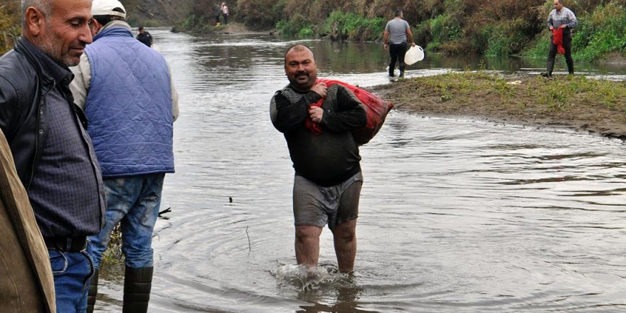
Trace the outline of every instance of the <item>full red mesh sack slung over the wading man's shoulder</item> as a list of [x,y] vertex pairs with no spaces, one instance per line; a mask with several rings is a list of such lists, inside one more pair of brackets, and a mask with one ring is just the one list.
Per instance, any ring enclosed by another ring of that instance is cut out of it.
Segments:
[[352,130],[352,136],[359,146],[368,143],[374,136],[376,136],[378,130],[383,127],[387,113],[391,111],[391,108],[393,107],[393,103],[386,102],[381,99],[381,97],[378,97],[367,90],[349,85],[348,83],[344,83],[339,80],[318,79],[317,82],[324,83],[328,87],[333,84],[342,85],[354,93],[354,95],[356,95],[356,97],[363,103],[367,115],[367,124],[362,128]]

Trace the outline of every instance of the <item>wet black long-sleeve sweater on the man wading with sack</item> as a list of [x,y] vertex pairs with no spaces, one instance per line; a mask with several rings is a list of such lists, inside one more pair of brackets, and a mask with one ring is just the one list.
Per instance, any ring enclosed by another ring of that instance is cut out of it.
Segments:
[[290,86],[272,97],[274,127],[285,134],[296,174],[320,186],[333,186],[361,171],[359,146],[351,130],[364,127],[366,112],[346,87],[331,85],[322,104],[321,134],[304,126],[309,106],[319,101],[317,92],[298,92]]

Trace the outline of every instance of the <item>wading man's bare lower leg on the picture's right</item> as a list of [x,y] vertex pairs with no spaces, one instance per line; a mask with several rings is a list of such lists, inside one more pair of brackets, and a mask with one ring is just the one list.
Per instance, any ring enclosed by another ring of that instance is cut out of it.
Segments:
[[336,226],[333,237],[339,272],[352,272],[356,257],[356,218]]

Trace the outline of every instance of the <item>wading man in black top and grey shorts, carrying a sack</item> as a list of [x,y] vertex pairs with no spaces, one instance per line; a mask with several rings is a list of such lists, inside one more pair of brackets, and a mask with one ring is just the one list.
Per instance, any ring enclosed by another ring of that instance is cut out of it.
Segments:
[[[270,117],[285,135],[295,169],[296,260],[317,266],[319,235],[328,224],[339,270],[351,272],[363,184],[359,146],[351,129],[365,126],[364,105],[340,84],[316,82],[317,65],[307,46],[287,49],[285,73],[290,84],[272,97]],[[322,107],[312,105],[320,100]]]

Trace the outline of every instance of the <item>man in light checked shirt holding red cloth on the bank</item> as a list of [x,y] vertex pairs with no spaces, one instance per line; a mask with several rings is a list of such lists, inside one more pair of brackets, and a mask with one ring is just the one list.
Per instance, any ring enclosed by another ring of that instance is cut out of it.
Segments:
[[[574,13],[563,6],[563,0],[554,0],[554,9],[548,14],[548,29],[563,29],[563,48],[565,48],[565,62],[568,66],[568,73],[574,75],[574,60],[572,59],[572,31],[578,25],[578,19]],[[548,52],[548,70],[541,73],[543,77],[552,77],[554,68],[554,58],[556,57],[557,46],[554,44],[553,36],[550,37],[550,51]]]

